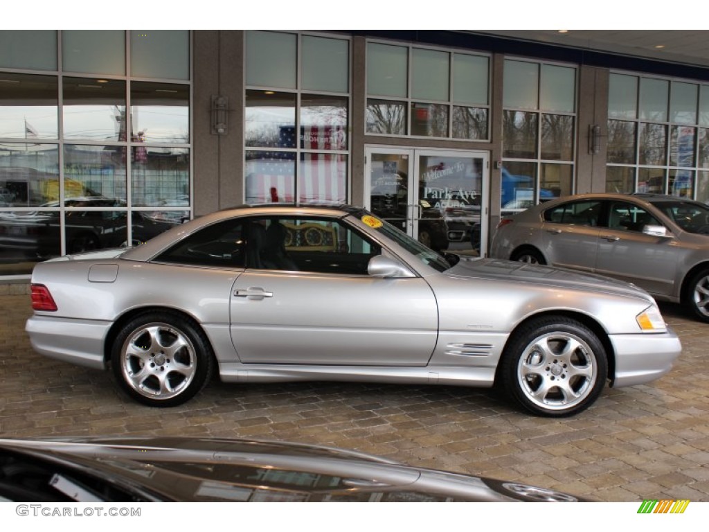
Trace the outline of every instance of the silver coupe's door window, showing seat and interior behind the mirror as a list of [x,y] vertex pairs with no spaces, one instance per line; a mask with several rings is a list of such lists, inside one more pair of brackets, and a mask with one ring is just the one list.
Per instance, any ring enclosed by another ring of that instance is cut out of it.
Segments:
[[333,218],[250,217],[244,226],[247,268],[367,275],[376,243]]

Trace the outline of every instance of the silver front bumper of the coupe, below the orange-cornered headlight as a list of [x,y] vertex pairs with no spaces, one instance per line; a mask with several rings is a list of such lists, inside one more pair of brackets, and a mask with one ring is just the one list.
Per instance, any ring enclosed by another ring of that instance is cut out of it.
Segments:
[[613,387],[635,386],[659,379],[672,369],[682,345],[668,329],[660,334],[610,335],[615,350]]

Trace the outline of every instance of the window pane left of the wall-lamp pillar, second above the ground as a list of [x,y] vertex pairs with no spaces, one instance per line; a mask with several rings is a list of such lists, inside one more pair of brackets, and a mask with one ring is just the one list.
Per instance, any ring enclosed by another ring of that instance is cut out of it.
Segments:
[[133,146],[131,162],[133,206],[189,207],[188,149]]

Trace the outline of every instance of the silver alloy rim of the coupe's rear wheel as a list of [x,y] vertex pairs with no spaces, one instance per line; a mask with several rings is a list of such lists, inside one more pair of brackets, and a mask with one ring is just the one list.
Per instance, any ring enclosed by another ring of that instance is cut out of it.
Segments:
[[124,381],[146,398],[176,397],[189,387],[196,370],[191,340],[167,323],[147,323],[135,329],[121,349]]

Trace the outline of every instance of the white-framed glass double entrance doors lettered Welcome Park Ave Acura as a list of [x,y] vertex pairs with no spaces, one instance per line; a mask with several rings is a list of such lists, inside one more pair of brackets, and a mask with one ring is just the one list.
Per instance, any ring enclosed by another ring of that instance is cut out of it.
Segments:
[[367,148],[367,207],[436,251],[487,248],[488,154]]

